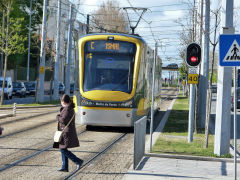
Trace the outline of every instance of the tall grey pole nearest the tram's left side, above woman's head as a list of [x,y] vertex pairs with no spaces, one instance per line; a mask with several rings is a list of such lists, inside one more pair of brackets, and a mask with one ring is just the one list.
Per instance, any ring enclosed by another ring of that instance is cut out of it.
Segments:
[[70,66],[72,52],[72,4],[70,4],[69,24],[68,24],[68,42],[67,42],[67,61],[65,76],[65,93],[70,94]]

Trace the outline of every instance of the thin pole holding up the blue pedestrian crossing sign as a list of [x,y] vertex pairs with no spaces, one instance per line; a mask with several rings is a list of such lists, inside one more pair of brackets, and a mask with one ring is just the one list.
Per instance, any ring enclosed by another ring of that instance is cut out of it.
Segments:
[[237,68],[234,67],[234,177],[237,179]]

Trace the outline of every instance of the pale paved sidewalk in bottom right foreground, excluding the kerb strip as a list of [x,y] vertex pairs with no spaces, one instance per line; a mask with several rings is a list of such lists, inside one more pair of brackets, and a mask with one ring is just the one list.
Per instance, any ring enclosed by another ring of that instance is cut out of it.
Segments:
[[[239,163],[238,163],[239,165]],[[238,167],[238,175],[240,168]],[[154,179],[214,179],[233,180],[234,163],[144,157],[137,170],[133,167],[123,180],[154,180]]]

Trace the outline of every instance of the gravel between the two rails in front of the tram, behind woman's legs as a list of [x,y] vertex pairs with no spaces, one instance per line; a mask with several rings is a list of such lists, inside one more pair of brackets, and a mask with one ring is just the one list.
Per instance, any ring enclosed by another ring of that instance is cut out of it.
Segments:
[[[117,132],[87,131],[79,136],[80,147],[74,148],[72,151],[78,157],[87,160],[116,139],[119,134]],[[71,172],[75,165],[71,161],[69,161],[69,165],[69,171]],[[0,173],[0,179],[8,177],[9,174],[11,174],[10,179],[62,179],[68,173],[58,172],[57,169],[60,167],[61,154],[59,150],[50,149],[20,163],[18,166],[3,171]]]

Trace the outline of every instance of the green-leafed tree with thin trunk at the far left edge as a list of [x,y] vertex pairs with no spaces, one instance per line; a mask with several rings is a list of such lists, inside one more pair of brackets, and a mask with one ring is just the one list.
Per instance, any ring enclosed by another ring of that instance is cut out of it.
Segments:
[[2,105],[4,100],[4,88],[5,88],[8,56],[16,53],[24,53],[26,51],[24,47],[24,42],[27,40],[27,38],[21,34],[23,29],[22,27],[23,18],[10,18],[12,5],[13,5],[13,0],[2,1],[3,11],[6,12],[7,20],[6,20],[6,28],[4,29],[0,28],[0,39],[2,39],[2,41],[0,42],[0,48],[1,48],[1,51],[4,52],[5,54],[0,105]]

